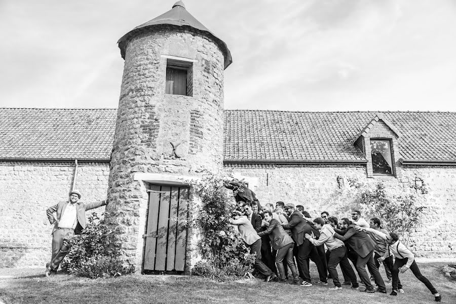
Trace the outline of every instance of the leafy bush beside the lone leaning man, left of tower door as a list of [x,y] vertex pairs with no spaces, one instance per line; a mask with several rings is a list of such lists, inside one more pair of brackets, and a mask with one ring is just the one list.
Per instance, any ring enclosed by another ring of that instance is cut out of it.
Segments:
[[61,267],[69,274],[80,277],[117,277],[133,271],[125,267],[120,249],[113,246],[115,240],[104,220],[95,214],[87,218],[83,234],[71,239],[71,249],[62,261]]

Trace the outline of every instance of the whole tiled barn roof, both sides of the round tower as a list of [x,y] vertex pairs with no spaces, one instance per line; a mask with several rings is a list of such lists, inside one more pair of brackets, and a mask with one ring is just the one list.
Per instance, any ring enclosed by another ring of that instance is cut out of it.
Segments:
[[[353,144],[377,112],[225,110],[228,161],[365,160]],[[456,161],[456,113],[379,112],[400,132],[400,157]],[[0,160],[109,159],[117,109],[0,108]]]

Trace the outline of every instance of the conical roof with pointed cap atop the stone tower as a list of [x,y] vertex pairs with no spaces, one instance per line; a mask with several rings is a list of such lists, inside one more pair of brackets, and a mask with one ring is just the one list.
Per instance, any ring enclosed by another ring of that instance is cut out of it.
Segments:
[[224,55],[224,68],[228,67],[232,62],[233,59],[231,58],[231,53],[230,50],[228,49],[228,46],[221,40],[219,39],[216,35],[214,35],[209,29],[207,29],[206,26],[201,24],[200,21],[198,21],[195,17],[193,17],[190,13],[187,12],[185,9],[185,5],[183,4],[182,1],[176,2],[172,9],[150,21],[147,21],[146,23],[143,23],[139,26],[136,26],[134,29],[126,33],[119,39],[117,42],[119,44],[119,48],[121,50],[121,55],[122,58],[125,59],[125,49],[127,47],[127,40],[135,34],[139,29],[145,28],[145,27],[152,27],[156,25],[162,25],[162,24],[171,24],[171,25],[176,25],[176,26],[189,26],[193,27],[196,29],[199,29],[201,31],[207,32],[209,36],[212,37],[212,39],[219,43],[220,46],[223,49],[223,55]]

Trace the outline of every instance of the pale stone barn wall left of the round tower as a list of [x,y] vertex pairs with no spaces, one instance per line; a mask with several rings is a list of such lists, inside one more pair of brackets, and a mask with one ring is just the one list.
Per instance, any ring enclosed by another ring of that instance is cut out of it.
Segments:
[[[80,163],[82,202],[106,198],[107,164]],[[51,258],[46,209],[68,199],[74,163],[0,162],[0,267],[44,267]],[[104,207],[96,211],[103,217]]]

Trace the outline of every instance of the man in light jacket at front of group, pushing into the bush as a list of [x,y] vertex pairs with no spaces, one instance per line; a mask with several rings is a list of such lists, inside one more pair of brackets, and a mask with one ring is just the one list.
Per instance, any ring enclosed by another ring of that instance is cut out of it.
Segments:
[[264,281],[270,282],[276,280],[276,274],[261,261],[261,238],[255,229],[253,229],[252,223],[247,216],[235,210],[232,213],[232,218],[230,218],[230,223],[238,226],[241,238],[244,240],[246,246],[250,248],[250,254],[256,253],[254,265],[258,272],[266,277]]

